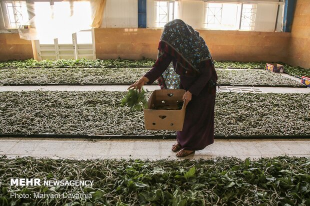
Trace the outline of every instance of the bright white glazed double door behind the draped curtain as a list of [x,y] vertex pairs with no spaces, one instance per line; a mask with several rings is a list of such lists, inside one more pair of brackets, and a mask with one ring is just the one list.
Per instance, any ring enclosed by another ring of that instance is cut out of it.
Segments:
[[[34,2],[34,12],[36,15],[36,29],[56,28],[55,33],[40,35],[35,41],[38,60],[43,59],[94,59],[94,44],[92,30],[80,30],[76,32],[75,24],[89,25],[90,3],[87,1],[54,1]],[[80,14],[83,15],[80,15]],[[88,19],[87,19],[88,17]],[[71,19],[70,19],[71,18]],[[73,20],[73,24],[62,24],[61,21]],[[90,28],[90,27],[89,27]],[[63,32],[66,31],[66,32]],[[74,33],[73,33],[74,32]],[[57,36],[57,38],[54,38]]]

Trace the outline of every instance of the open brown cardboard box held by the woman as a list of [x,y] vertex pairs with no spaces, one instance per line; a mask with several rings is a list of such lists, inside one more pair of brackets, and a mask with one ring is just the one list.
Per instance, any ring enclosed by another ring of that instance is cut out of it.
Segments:
[[[177,104],[183,102],[183,89],[160,89],[151,93],[147,100],[147,109],[144,109],[146,130],[182,131],[185,105],[178,109]],[[169,109],[156,109],[156,108]]]

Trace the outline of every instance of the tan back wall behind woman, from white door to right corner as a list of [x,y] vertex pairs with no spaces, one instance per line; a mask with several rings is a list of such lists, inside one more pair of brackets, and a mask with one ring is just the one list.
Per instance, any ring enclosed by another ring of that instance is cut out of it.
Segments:
[[[156,58],[161,29],[94,29],[96,57],[99,59],[142,56]],[[284,61],[290,33],[198,30],[214,60]]]

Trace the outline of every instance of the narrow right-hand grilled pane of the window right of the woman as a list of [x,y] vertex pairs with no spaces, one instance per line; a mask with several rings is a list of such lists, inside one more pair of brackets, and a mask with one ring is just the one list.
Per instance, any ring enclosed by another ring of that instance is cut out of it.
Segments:
[[241,15],[241,30],[254,30],[255,16],[256,16],[256,4],[245,4],[242,5]]

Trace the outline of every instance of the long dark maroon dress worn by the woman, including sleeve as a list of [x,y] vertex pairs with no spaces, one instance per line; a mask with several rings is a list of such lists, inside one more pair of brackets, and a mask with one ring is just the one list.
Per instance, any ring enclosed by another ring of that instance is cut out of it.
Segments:
[[[176,67],[176,59],[165,53],[157,59],[154,66],[144,75],[149,79],[147,84],[153,83],[172,61]],[[210,64],[201,69],[196,77],[180,75],[180,89],[192,94],[191,101],[186,106],[182,131],[177,132],[176,139],[185,150],[202,150],[214,142],[214,104],[215,86],[210,87],[208,81],[216,82],[217,75]]]

